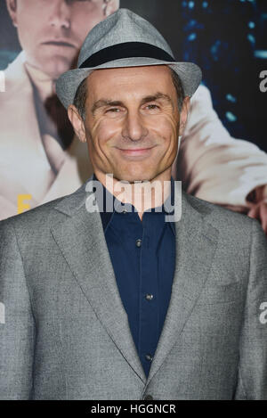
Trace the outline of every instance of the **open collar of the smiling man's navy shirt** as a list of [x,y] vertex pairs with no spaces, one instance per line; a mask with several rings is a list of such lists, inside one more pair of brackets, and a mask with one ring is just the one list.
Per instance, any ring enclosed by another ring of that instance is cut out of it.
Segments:
[[[97,176],[95,176],[95,174],[93,173],[93,181],[98,181]],[[103,188],[103,196],[102,196],[102,201],[103,201],[103,205],[102,205],[102,211],[101,211],[101,222],[102,222],[102,226],[103,226],[103,230],[104,232],[106,232],[109,223],[111,222],[112,217],[114,216],[115,213],[115,201],[117,202],[117,204],[119,205],[123,205],[123,203],[121,203],[120,201],[117,201],[117,198],[114,196],[114,194],[110,193],[109,190],[102,184],[102,188]],[[112,208],[113,211],[106,211],[106,201],[107,201],[107,197],[113,202]],[[97,196],[96,196],[96,200],[97,200]],[[167,197],[166,201],[165,201],[165,205],[162,205],[162,209],[161,212],[158,212],[158,214],[161,214],[162,216],[165,215],[172,215],[174,214],[174,209],[168,209],[170,208],[169,204],[171,202],[171,208],[174,208],[174,178],[173,176],[171,176],[171,193],[170,195]],[[134,206],[131,204],[125,204],[125,208],[130,205],[130,208],[134,211]],[[155,208],[151,209],[151,212],[155,212]],[[150,212],[148,212],[150,213]],[[174,222],[168,222],[168,224],[170,224],[174,234],[175,234],[175,225]]]

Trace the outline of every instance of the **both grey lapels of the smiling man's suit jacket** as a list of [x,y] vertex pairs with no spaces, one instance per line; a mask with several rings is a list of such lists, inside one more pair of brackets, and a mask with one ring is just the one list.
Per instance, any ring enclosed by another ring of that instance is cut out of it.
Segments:
[[[92,178],[92,177],[91,177]],[[148,380],[136,351],[127,314],[109,258],[99,213],[85,209],[85,184],[63,199],[57,210],[69,215],[54,225],[52,234],[77,283],[125,360],[140,379],[149,384],[178,340],[206,282],[218,231],[182,193],[182,218],[175,223],[176,266],[170,304]]]

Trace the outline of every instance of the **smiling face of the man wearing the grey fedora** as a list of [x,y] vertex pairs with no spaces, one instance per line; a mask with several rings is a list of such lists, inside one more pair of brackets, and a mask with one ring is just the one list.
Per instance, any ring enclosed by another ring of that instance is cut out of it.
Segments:
[[[95,70],[86,83],[82,131],[96,176],[101,180],[113,173],[131,183],[169,177],[180,122],[184,125],[187,116],[186,106],[179,114],[169,68]],[[81,137],[81,130],[77,134]]]

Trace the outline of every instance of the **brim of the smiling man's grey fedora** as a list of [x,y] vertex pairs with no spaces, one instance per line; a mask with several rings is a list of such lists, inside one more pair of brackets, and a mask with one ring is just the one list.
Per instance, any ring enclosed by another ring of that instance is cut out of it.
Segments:
[[184,94],[192,96],[197,90],[201,79],[202,71],[193,62],[170,62],[160,61],[153,58],[123,58],[109,61],[93,68],[76,69],[64,72],[56,82],[56,94],[63,106],[68,109],[69,104],[74,102],[78,86],[94,70],[114,69],[125,67],[143,67],[150,65],[168,65],[181,78]]

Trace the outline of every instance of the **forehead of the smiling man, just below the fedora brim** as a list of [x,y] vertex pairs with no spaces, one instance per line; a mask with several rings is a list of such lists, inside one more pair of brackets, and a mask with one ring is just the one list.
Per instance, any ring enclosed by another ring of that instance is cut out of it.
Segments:
[[166,65],[94,70],[86,83],[89,95],[174,92],[171,71]]

